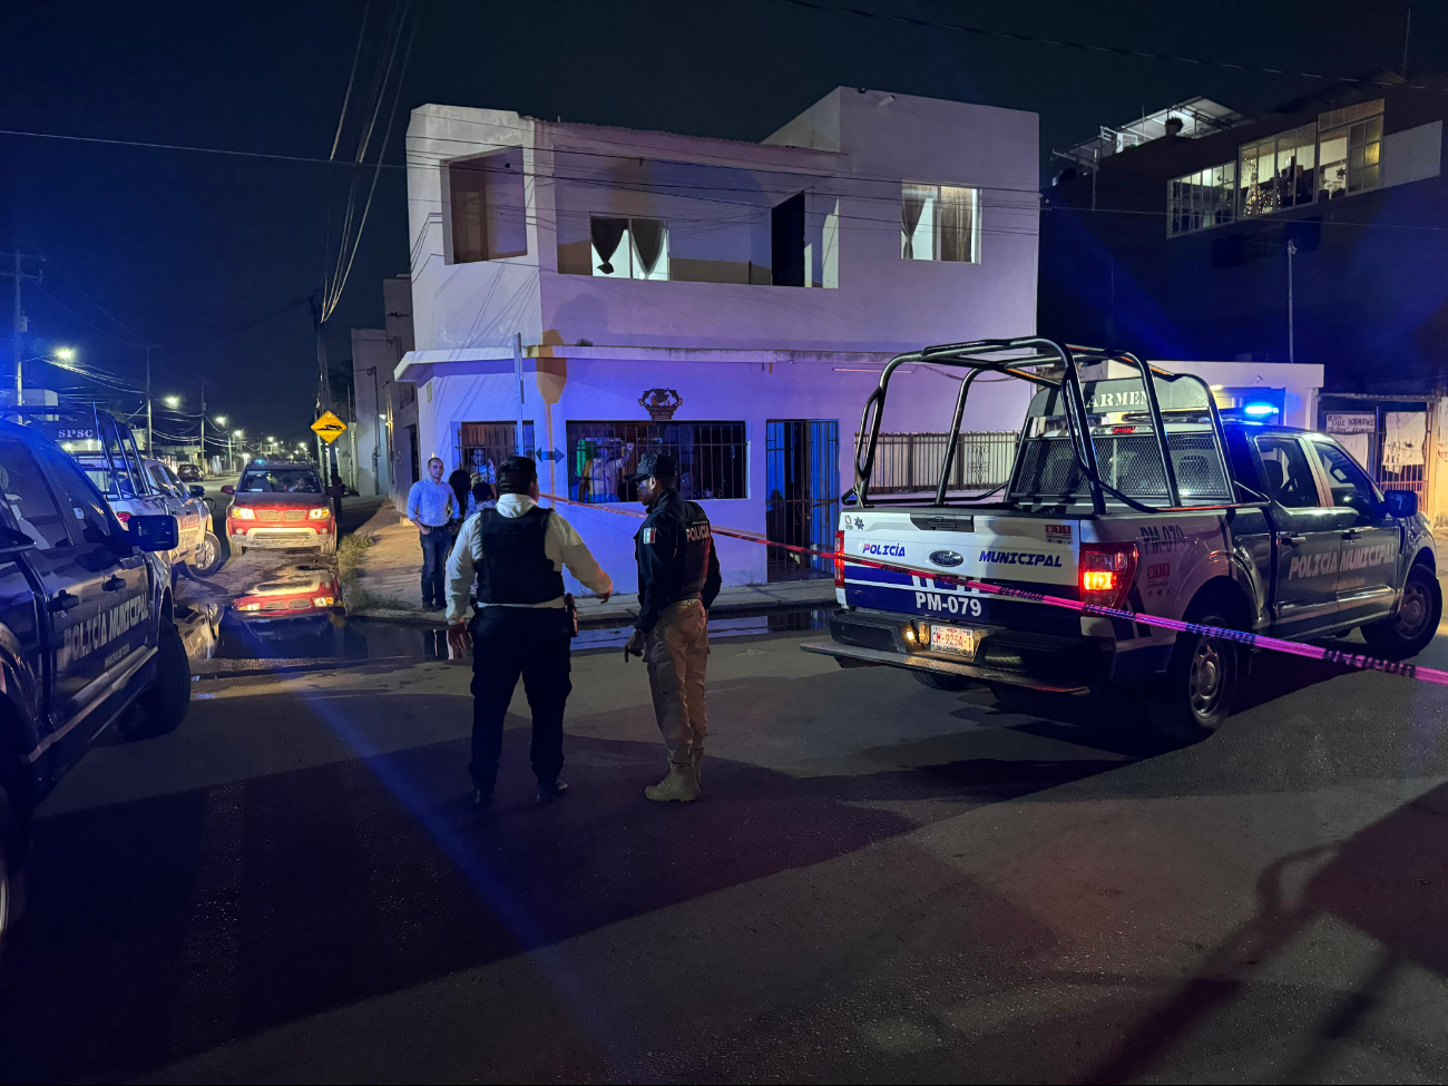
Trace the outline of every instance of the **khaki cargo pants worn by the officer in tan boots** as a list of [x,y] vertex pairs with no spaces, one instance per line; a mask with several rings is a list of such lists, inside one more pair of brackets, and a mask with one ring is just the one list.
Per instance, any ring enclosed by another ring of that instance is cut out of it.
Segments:
[[669,604],[643,643],[649,689],[669,760],[688,765],[704,753],[708,715],[704,704],[704,669],[710,659],[710,628],[704,604],[681,599]]

